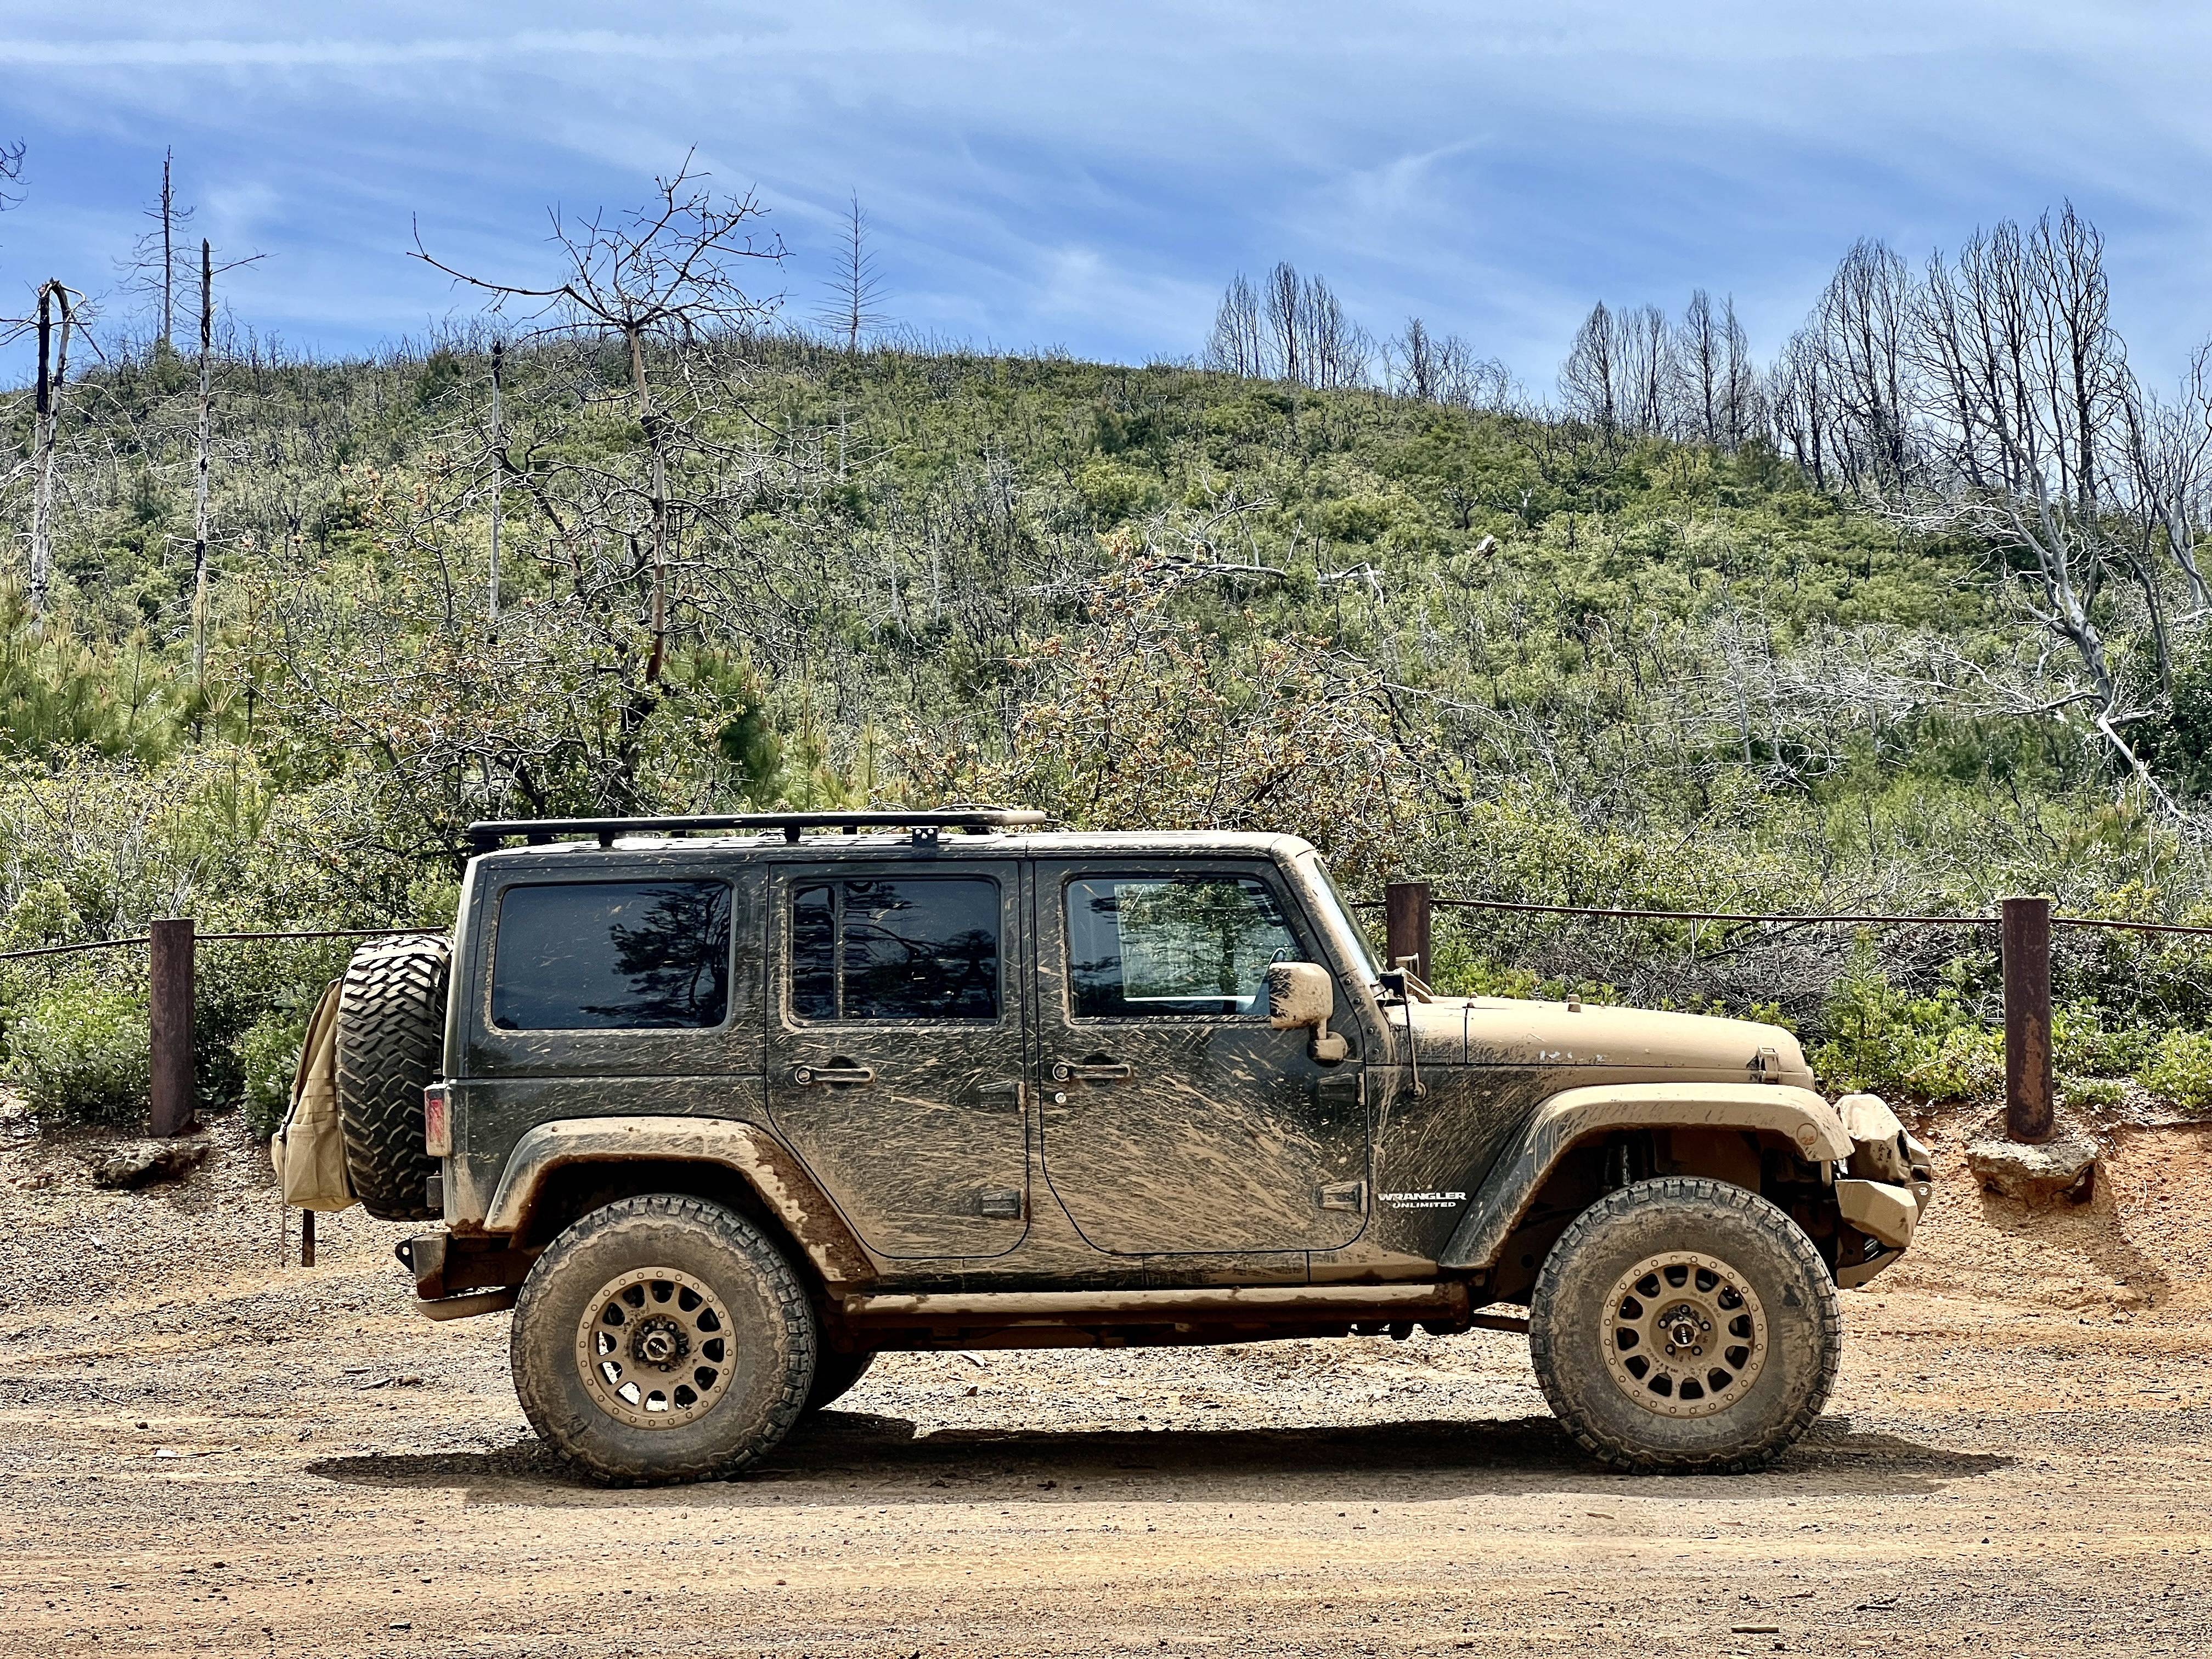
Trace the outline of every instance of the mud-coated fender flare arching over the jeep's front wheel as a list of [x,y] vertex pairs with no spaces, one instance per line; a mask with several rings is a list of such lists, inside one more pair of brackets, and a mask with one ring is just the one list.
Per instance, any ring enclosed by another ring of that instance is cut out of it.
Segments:
[[1444,1267],[1491,1267],[1537,1190],[1577,1141],[1617,1128],[1745,1128],[1787,1139],[1807,1164],[1851,1157],[1843,1117],[1792,1084],[1593,1084],[1566,1088],[1506,1144],[1460,1217]]

